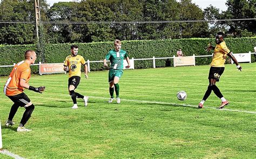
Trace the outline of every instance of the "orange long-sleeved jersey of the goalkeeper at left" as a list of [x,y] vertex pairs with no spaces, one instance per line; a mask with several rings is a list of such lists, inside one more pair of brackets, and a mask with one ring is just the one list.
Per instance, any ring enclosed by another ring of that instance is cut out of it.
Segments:
[[30,65],[25,61],[17,63],[11,71],[8,80],[4,85],[4,94],[6,96],[15,96],[22,93],[25,88],[23,88],[19,81],[25,79],[26,83],[29,82],[31,70]]

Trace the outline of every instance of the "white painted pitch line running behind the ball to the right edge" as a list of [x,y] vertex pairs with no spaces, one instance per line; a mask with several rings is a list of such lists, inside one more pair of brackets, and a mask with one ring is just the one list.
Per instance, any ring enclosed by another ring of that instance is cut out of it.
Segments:
[[[104,98],[104,97],[93,97],[93,96],[89,96],[89,98],[109,99],[109,98]],[[147,100],[131,100],[131,99],[121,99],[121,100],[129,101],[129,102],[138,102],[138,103],[154,103],[154,104],[166,104],[166,105],[174,105],[174,106],[198,107],[198,105],[165,103],[165,102],[156,102],[156,101],[147,101]],[[230,112],[242,112],[242,113],[256,114],[256,112],[253,112],[253,111],[242,111],[242,110],[231,110],[231,109],[217,109],[215,107],[208,107],[208,106],[204,106],[204,108],[213,109],[213,110],[217,110],[217,111],[230,111]]]

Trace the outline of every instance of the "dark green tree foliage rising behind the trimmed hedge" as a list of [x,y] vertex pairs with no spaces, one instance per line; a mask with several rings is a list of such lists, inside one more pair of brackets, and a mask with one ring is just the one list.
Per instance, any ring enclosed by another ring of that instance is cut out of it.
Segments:
[[[218,31],[228,37],[255,36],[255,20],[182,22],[255,18],[255,0],[228,0],[227,11],[213,6],[201,10],[191,0],[82,0],[59,2],[51,7],[40,0],[41,20],[47,43],[97,42],[120,40],[164,40],[207,38]],[[34,0],[2,0],[1,21],[35,21]],[[84,24],[76,24],[79,22]],[[100,21],[105,23],[88,24]],[[116,23],[116,21],[132,21]],[[140,23],[143,21],[143,23]],[[149,23],[150,21],[177,21]],[[58,22],[58,23],[55,23]],[[35,44],[35,24],[0,23],[0,44]]]

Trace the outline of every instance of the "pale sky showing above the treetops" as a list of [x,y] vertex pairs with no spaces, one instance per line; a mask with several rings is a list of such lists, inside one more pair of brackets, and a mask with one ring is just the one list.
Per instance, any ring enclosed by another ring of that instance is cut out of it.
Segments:
[[[53,5],[53,3],[57,2],[72,2],[72,0],[46,0],[46,2]],[[226,2],[226,0],[192,0],[192,3],[196,3],[201,9],[205,9],[211,4],[222,11],[227,10]]]

